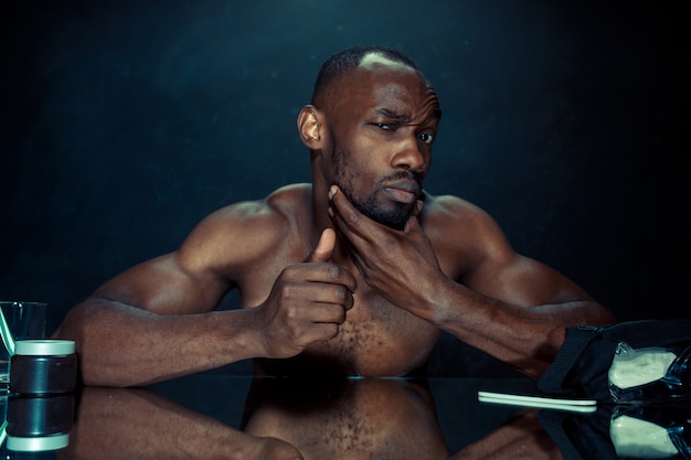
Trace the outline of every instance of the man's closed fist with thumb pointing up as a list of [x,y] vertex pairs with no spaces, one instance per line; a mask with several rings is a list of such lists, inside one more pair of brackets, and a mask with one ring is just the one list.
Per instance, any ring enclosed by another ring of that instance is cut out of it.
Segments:
[[322,232],[315,250],[301,264],[286,267],[257,310],[265,355],[291,357],[308,345],[333,339],[353,306],[352,274],[329,263],[336,233]]

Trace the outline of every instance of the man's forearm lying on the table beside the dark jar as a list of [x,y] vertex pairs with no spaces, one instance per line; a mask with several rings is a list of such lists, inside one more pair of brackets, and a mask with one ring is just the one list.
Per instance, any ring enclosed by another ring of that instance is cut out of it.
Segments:
[[54,336],[76,342],[84,384],[138,386],[255,356],[251,321],[249,310],[160,315],[88,300]]

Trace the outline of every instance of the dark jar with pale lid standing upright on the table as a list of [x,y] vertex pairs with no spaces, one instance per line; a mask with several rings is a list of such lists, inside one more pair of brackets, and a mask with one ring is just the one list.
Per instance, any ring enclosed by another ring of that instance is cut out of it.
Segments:
[[77,356],[71,340],[20,340],[10,363],[10,393],[50,396],[74,391]]

